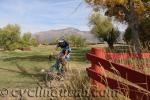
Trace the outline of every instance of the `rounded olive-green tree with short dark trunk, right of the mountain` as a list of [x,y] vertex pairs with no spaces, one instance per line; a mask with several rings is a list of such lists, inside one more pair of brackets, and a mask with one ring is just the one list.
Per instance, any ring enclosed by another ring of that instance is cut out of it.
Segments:
[[103,38],[109,47],[113,49],[113,44],[119,36],[119,31],[114,28],[111,19],[95,13],[90,18],[90,25],[92,27],[91,32],[99,39]]

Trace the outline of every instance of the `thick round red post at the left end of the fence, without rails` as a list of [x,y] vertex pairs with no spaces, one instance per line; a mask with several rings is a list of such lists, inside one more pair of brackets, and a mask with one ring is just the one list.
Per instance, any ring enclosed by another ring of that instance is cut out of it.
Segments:
[[[105,52],[106,51],[103,48],[92,48],[91,49],[92,54],[94,54],[97,57],[101,57],[101,58],[105,58],[105,55],[106,55]],[[93,71],[95,71],[98,74],[101,74],[102,76],[106,76],[105,69],[101,65],[99,65],[98,62],[91,61],[91,64],[92,65],[91,65],[90,69],[92,69]],[[106,89],[106,86],[104,84],[99,83],[96,80],[92,80],[92,85],[100,91],[103,91]]]

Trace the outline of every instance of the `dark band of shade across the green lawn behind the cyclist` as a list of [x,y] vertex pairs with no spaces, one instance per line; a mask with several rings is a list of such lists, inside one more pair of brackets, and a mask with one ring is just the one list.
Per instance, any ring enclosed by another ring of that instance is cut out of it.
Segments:
[[[86,61],[86,53],[89,52],[89,48],[72,48],[71,52],[71,61],[84,62]],[[17,57],[9,57],[4,58],[3,61],[15,61],[15,60],[27,60],[27,61],[35,61],[35,62],[44,62],[44,61],[54,61],[55,57],[51,57],[49,59],[49,55],[24,55]]]

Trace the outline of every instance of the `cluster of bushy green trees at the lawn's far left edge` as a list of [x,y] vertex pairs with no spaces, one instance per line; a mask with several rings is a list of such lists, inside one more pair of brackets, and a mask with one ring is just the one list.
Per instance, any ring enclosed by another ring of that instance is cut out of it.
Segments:
[[21,28],[17,24],[9,24],[0,28],[0,48],[4,50],[15,50],[38,46],[36,38],[30,32],[21,33]]

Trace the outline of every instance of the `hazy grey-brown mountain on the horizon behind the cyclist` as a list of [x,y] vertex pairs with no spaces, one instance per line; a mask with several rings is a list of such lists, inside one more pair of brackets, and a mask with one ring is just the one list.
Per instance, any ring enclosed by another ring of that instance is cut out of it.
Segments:
[[81,37],[85,38],[88,43],[99,42],[99,40],[89,31],[80,31],[72,27],[59,30],[37,32],[34,34],[34,37],[36,37],[40,43],[52,43],[54,42],[54,40],[66,35],[80,35]]

